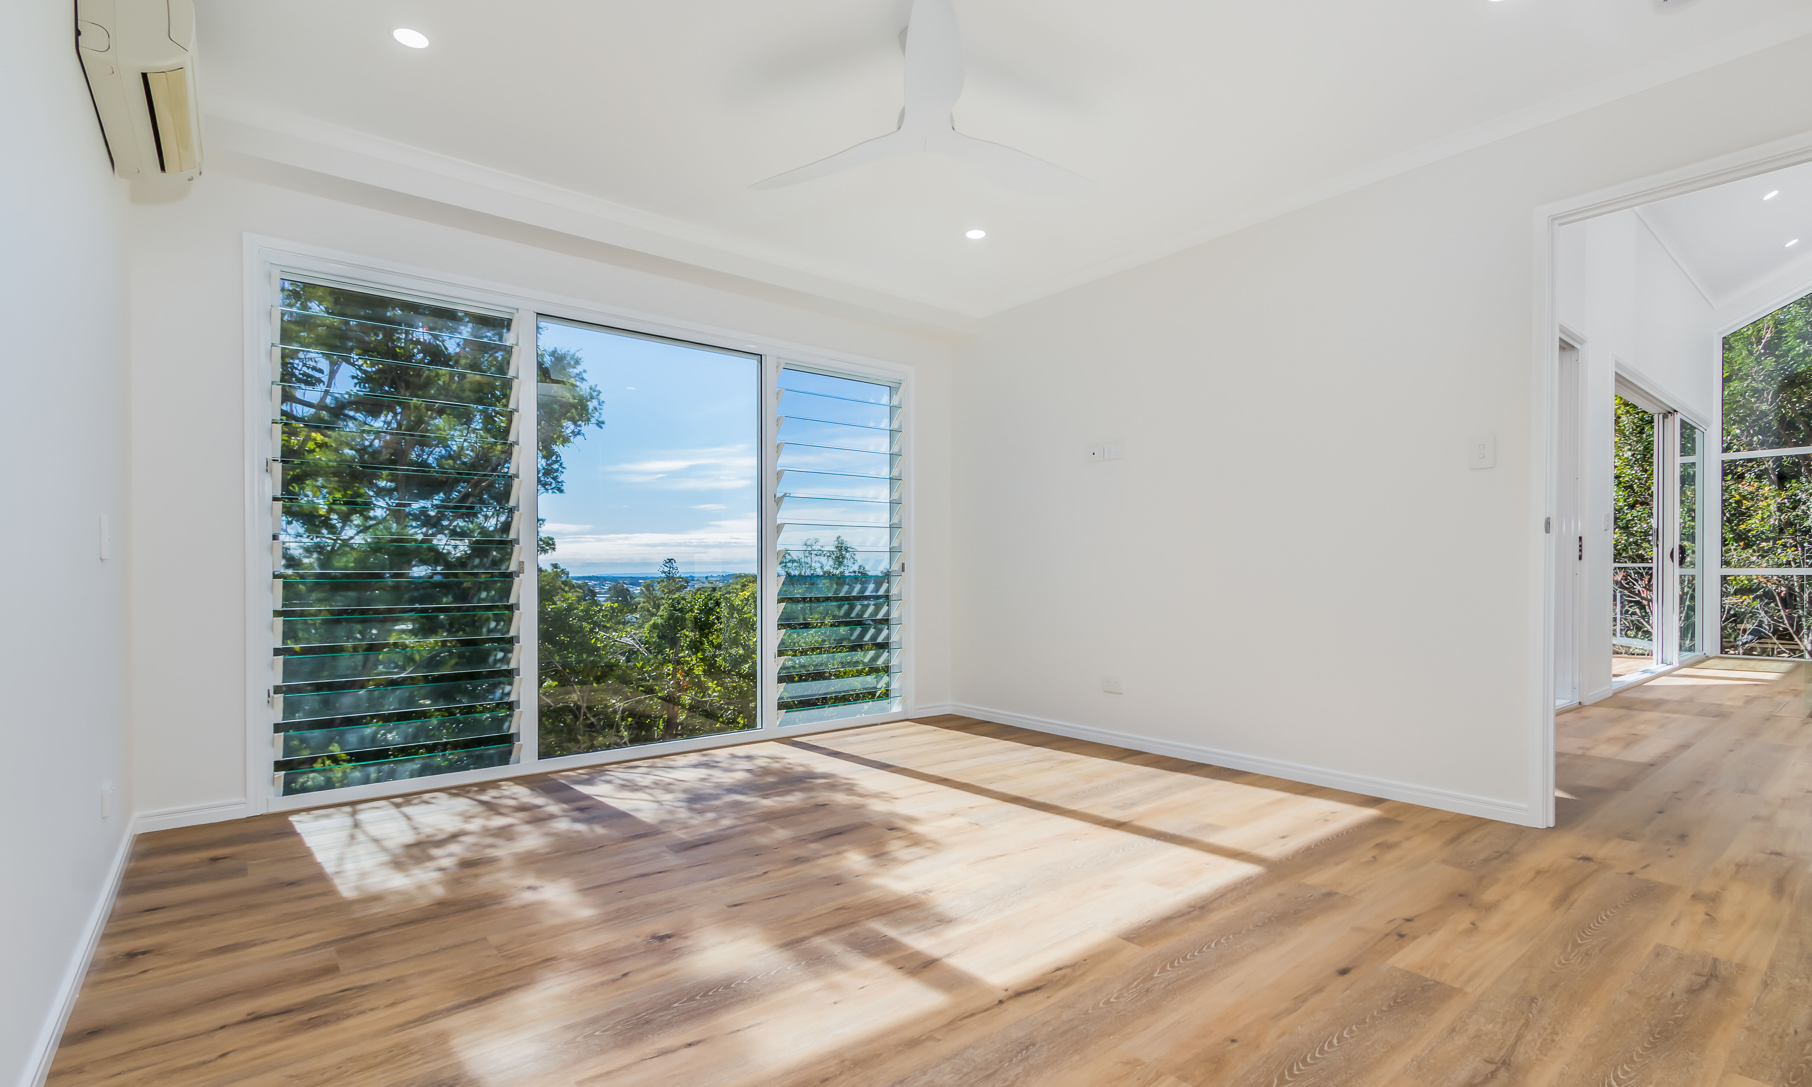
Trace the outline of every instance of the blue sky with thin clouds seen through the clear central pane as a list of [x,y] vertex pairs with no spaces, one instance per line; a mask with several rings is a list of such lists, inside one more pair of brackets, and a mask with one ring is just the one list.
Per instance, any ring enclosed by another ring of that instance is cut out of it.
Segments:
[[583,355],[603,393],[602,429],[562,451],[565,493],[542,495],[542,565],[574,574],[759,565],[761,364],[680,344],[542,322],[540,346]]

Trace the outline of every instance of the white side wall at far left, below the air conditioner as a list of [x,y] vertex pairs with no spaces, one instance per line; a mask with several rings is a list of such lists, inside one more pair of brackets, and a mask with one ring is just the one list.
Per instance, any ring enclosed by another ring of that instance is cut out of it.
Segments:
[[[7,5],[0,34],[0,1082],[31,1082],[123,842],[125,261],[114,181],[63,0]],[[114,558],[98,554],[112,518]],[[101,819],[101,781],[121,790]],[[82,962],[80,966],[85,966]],[[80,980],[80,978],[78,978]]]

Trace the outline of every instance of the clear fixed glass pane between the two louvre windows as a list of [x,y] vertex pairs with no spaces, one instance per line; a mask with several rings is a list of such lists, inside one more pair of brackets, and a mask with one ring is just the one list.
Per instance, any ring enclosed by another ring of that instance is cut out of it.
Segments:
[[542,757],[757,725],[761,361],[542,321]]

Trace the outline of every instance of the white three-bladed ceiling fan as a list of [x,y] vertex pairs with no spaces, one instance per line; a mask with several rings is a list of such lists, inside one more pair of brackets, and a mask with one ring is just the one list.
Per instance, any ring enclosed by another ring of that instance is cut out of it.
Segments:
[[1018,192],[1084,196],[1094,183],[1042,158],[957,132],[951,109],[962,98],[962,36],[949,0],[913,0],[906,24],[906,107],[899,129],[857,143],[812,165],[756,181],[750,188],[781,188],[814,181],[850,167],[895,154],[949,156],[977,174]]

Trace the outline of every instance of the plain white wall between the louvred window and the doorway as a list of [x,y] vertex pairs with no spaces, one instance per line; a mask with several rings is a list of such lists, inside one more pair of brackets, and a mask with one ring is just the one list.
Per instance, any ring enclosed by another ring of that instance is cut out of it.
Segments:
[[1535,208],[1794,136],[1808,92],[1799,40],[989,319],[959,703],[1528,817]]

